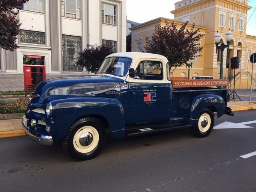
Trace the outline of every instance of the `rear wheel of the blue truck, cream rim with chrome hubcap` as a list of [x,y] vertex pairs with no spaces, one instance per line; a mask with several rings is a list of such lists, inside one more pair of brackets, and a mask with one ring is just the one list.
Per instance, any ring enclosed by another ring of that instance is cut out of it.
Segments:
[[190,128],[192,134],[196,137],[207,137],[214,126],[214,114],[209,109],[204,109],[198,119],[196,126]]

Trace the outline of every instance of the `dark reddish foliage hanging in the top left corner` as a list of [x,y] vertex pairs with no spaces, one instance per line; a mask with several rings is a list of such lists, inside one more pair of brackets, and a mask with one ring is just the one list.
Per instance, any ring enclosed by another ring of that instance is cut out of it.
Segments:
[[16,40],[20,34],[18,13],[28,0],[0,0],[0,47],[14,51],[18,48]]

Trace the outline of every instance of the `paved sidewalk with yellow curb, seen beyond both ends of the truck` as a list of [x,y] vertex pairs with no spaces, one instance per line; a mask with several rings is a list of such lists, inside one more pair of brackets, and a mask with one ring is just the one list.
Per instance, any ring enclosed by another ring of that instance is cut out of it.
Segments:
[[[233,91],[231,90],[230,93]],[[251,102],[249,104],[250,100],[250,90],[235,90],[235,101],[230,100],[228,102],[228,107],[231,107],[234,111],[241,111],[241,110],[251,110],[256,109],[256,91],[252,91],[251,94]],[[233,98],[233,94],[232,94]],[[15,99],[15,98],[11,98]],[[240,101],[240,99],[242,101]],[[236,113],[235,113],[236,116]],[[15,136],[22,136],[25,135],[24,131],[22,130],[21,125],[22,116],[20,117],[14,117],[14,118],[8,118],[8,119],[2,119],[0,120],[0,138],[5,137],[15,137]]]

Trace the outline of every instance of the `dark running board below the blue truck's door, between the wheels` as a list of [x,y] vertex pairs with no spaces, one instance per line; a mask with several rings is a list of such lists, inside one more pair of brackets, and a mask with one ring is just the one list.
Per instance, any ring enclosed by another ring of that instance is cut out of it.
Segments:
[[135,127],[126,127],[126,136],[136,136],[136,135],[144,135],[156,132],[163,132],[173,129],[180,128],[190,128],[191,124],[185,124],[184,122],[180,123],[166,123],[166,124],[153,124],[153,125],[143,125],[143,126],[135,126]]

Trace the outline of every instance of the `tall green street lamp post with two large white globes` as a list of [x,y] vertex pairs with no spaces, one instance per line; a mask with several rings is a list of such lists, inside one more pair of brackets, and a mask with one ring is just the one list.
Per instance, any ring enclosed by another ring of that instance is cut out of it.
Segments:
[[226,41],[227,41],[227,45],[225,45],[224,43],[222,43],[219,46],[220,43],[220,39],[221,39],[221,35],[219,34],[219,32],[217,31],[216,35],[214,36],[214,42],[216,44],[216,53],[218,53],[218,49],[221,50],[221,57],[220,57],[220,79],[223,79],[223,52],[224,49],[227,47],[228,48],[228,52],[229,52],[229,46],[231,43],[233,37],[233,33],[228,29],[228,32],[226,33]]

